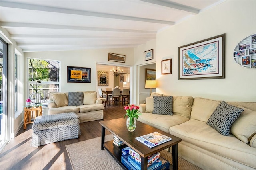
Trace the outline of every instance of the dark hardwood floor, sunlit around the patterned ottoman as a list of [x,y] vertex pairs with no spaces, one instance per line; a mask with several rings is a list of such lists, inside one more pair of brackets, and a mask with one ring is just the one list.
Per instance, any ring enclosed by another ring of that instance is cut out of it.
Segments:
[[[123,105],[107,106],[104,109],[104,120],[123,118]],[[78,139],[70,139],[50,143],[40,147],[31,147],[32,124],[27,129],[20,129],[2,150],[0,155],[1,170],[72,170],[66,145],[101,136],[100,121],[80,123],[81,135]],[[106,131],[106,135],[110,132]],[[99,146],[100,147],[100,146]]]

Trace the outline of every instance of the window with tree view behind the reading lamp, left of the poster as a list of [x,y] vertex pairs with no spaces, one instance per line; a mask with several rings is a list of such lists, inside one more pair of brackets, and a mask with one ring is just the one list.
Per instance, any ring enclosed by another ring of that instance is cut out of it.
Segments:
[[59,72],[60,61],[28,59],[28,88],[32,103],[45,103],[50,92],[59,91]]

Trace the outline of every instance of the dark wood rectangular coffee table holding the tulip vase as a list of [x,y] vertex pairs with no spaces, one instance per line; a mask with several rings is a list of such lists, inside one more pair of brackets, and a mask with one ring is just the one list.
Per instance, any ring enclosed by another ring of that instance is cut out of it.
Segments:
[[[160,152],[161,150],[164,150],[168,147],[172,147],[172,169],[178,170],[178,143],[181,142],[182,139],[176,136],[170,135],[169,133],[166,133],[159,129],[156,129],[150,125],[141,123],[139,121],[137,121],[137,126],[135,131],[129,132],[126,128],[126,119],[123,119],[123,118],[112,119],[109,121],[100,121],[100,125],[102,126],[101,150],[106,149],[124,170],[126,170],[126,167],[121,163],[121,155],[122,155],[122,148],[126,146],[131,147],[133,150],[135,150],[135,152],[140,154],[142,170],[147,169],[148,156],[156,152]],[[113,145],[113,140],[105,142],[105,129],[107,129],[108,131],[110,131],[110,133],[112,133],[113,135],[118,137],[120,140],[122,140],[126,145],[123,145],[122,147],[118,148],[116,145]],[[152,132],[162,133],[163,135],[171,137],[172,140],[162,143],[161,145],[158,145],[156,147],[150,148],[135,139],[136,137],[146,135]]]

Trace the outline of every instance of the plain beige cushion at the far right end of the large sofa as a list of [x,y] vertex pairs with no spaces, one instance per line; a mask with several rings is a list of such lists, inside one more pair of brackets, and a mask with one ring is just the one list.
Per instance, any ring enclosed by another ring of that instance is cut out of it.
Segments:
[[[243,108],[241,106],[238,107]],[[244,111],[231,126],[230,133],[244,143],[248,143],[256,133],[256,111],[243,109]]]

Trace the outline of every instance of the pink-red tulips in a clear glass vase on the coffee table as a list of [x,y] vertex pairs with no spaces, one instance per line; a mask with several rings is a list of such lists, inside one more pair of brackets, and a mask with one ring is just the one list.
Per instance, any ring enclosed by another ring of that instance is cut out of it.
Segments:
[[141,113],[139,113],[138,111],[139,108],[139,106],[136,106],[134,104],[128,104],[128,106],[124,106],[124,109],[126,110],[124,118],[127,116],[126,127],[130,132],[133,132],[135,130],[136,119],[138,119],[139,115],[141,115]]

